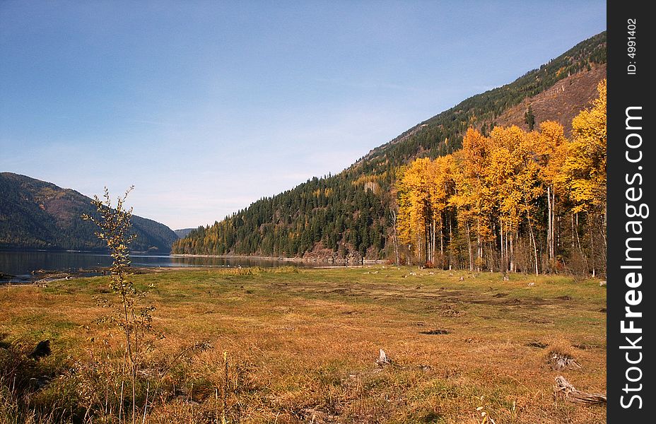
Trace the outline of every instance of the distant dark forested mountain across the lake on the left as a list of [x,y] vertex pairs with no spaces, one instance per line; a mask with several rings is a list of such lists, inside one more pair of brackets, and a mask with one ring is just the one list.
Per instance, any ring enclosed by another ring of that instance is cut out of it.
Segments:
[[[11,172],[0,173],[0,247],[96,250],[91,199],[71,189]],[[177,235],[166,225],[132,216],[137,251],[170,252]]]

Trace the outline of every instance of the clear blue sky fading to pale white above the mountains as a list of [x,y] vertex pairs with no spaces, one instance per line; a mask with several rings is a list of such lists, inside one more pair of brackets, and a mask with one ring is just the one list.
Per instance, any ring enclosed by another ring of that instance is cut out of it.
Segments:
[[606,29],[606,1],[0,0],[0,172],[221,220]]

